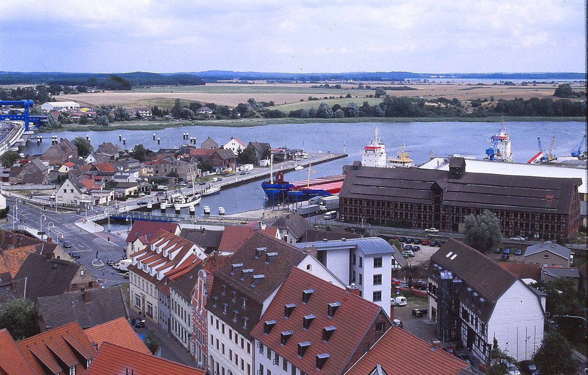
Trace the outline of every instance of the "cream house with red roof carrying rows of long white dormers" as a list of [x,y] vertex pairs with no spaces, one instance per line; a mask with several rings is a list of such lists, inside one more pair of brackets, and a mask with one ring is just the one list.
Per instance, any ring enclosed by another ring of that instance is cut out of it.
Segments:
[[129,282],[131,309],[159,323],[158,286],[165,283],[166,273],[206,255],[202,247],[163,229],[154,237],[145,249],[131,256]]

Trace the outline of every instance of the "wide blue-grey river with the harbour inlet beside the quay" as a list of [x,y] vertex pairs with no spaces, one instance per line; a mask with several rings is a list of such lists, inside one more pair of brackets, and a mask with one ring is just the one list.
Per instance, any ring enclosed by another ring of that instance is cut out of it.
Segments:
[[[196,137],[200,145],[208,136],[216,140],[219,145],[236,136],[243,143],[259,140],[269,142],[272,148],[286,145],[289,148],[302,149],[309,152],[343,152],[349,154],[347,158],[335,160],[313,166],[314,176],[336,175],[341,173],[342,166],[361,159],[363,146],[372,138],[373,129],[380,129],[380,136],[386,143],[389,156],[396,155],[401,143],[406,143],[406,150],[414,163],[429,160],[429,153],[433,150],[435,156],[447,156],[454,153],[474,155],[483,158],[488,146],[488,139],[500,128],[500,123],[488,122],[410,122],[410,123],[304,123],[288,125],[266,125],[253,128],[228,128],[223,126],[183,126],[163,130],[113,130],[110,132],[59,132],[42,133],[44,142],[37,146],[29,141],[21,148],[21,152],[35,155],[44,152],[51,146],[51,135],[59,138],[74,139],[88,135],[94,148],[102,142],[119,143],[119,134],[126,138],[124,148],[132,148],[142,143],[146,148],[174,148],[188,143],[182,139],[182,134],[188,132],[190,137]],[[515,162],[526,162],[537,153],[537,137],[542,140],[543,149],[549,149],[552,137],[555,136],[554,154],[556,156],[570,155],[572,149],[578,145],[586,132],[584,122],[508,122],[507,130],[512,140],[512,152]],[[161,138],[161,145],[153,140]],[[304,179],[308,170],[286,173],[286,180]],[[220,194],[203,197],[196,213],[202,213],[202,206],[211,207],[216,213],[218,206],[225,207],[226,213],[258,209],[265,199],[260,182],[252,182],[221,191]],[[187,213],[187,211],[186,211]]]

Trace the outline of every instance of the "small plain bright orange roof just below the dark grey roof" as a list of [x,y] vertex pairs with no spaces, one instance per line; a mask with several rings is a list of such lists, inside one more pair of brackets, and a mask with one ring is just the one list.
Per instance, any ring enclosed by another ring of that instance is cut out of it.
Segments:
[[98,324],[98,326],[85,329],[83,332],[91,342],[97,343],[98,347],[102,345],[103,341],[108,341],[128,349],[151,354],[151,351],[147,349],[143,340],[139,338],[133,327],[131,327],[131,324],[122,317]]

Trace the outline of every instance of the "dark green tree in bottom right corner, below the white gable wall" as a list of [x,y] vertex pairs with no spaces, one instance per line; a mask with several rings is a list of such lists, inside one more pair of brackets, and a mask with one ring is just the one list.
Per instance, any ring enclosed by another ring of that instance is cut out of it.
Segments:
[[557,332],[544,334],[533,361],[541,375],[573,375],[578,370],[572,343]]

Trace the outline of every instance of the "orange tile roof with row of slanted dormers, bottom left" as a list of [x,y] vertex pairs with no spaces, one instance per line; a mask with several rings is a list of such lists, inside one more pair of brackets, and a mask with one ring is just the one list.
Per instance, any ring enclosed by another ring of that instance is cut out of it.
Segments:
[[[82,373],[82,367],[85,368],[87,360],[96,353],[78,322],[18,341],[16,345],[38,374],[45,373],[43,365],[54,373],[69,373],[69,367],[77,365],[78,372]],[[80,357],[85,360],[80,361]],[[66,364],[65,368],[61,367],[62,363]]]

